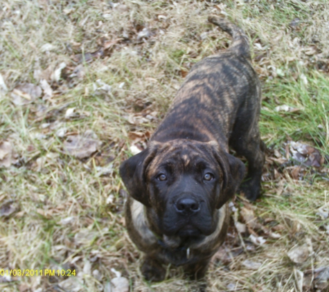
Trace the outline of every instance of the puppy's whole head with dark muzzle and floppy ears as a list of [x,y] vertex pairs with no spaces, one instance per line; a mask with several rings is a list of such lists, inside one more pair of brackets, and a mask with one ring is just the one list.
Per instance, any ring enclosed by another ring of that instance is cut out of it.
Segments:
[[237,190],[244,164],[217,143],[177,139],[150,143],[121,164],[130,195],[145,205],[152,229],[167,236],[210,235],[216,209]]

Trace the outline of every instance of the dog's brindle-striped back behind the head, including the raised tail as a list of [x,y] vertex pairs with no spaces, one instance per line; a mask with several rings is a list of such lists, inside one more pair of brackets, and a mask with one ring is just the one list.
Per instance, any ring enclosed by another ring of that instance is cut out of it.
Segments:
[[232,35],[231,46],[193,66],[152,140],[216,140],[227,150],[237,119],[256,112],[258,120],[260,84],[247,35],[225,19],[208,21]]

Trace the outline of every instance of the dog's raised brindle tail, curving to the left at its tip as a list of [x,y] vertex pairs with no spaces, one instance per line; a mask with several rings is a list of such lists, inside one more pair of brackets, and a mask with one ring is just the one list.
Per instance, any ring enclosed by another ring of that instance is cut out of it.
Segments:
[[229,51],[233,51],[237,55],[242,55],[248,59],[251,59],[249,51],[249,39],[241,28],[235,26],[230,21],[222,17],[210,16],[208,17],[208,21],[212,24],[215,24],[216,26],[219,26],[222,28],[222,30],[232,36],[233,41],[228,49]]

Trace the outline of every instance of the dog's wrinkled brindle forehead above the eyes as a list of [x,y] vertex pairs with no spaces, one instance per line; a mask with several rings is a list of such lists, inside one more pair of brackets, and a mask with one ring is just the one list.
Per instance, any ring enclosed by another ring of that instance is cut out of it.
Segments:
[[157,155],[149,165],[149,173],[157,172],[165,165],[193,168],[197,164],[203,164],[204,167],[217,165],[211,148],[206,143],[174,140],[164,143],[157,149]]

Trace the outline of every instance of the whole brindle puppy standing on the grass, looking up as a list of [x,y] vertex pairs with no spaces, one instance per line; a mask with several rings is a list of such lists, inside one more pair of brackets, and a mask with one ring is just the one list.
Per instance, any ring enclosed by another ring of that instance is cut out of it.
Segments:
[[233,37],[231,46],[195,64],[148,148],[124,161],[120,174],[130,194],[125,207],[129,235],[145,253],[147,280],[166,276],[162,264],[204,276],[224,241],[227,201],[241,190],[260,194],[265,145],[260,140],[260,82],[251,66],[249,41],[229,21],[209,17]]

